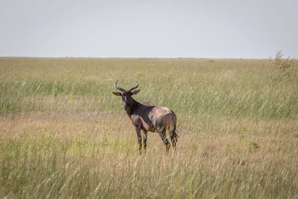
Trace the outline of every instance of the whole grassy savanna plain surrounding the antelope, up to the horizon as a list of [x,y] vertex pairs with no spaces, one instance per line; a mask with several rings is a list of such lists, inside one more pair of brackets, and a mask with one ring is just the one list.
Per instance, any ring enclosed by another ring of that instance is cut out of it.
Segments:
[[[177,115],[177,151],[112,92]],[[0,58],[0,198],[298,198],[298,61]]]

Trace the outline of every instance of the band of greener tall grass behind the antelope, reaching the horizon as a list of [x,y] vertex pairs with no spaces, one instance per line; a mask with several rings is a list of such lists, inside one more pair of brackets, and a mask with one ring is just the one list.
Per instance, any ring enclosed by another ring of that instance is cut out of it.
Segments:
[[[24,63],[23,63],[24,62]],[[298,86],[271,84],[265,60],[1,59],[0,112],[115,111],[113,84],[178,113],[295,118]],[[115,106],[118,108],[116,109]]]

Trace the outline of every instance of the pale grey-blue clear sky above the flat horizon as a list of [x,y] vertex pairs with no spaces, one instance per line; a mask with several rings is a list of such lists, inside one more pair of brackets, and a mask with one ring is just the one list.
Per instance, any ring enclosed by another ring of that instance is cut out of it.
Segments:
[[298,0],[0,0],[0,57],[298,57]]

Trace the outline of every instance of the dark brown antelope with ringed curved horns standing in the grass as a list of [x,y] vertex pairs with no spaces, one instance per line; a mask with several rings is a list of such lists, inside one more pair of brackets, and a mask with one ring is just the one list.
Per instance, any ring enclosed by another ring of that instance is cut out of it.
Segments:
[[178,142],[176,134],[176,123],[177,118],[175,113],[167,107],[154,106],[150,101],[138,102],[132,98],[133,95],[136,95],[140,90],[133,91],[139,87],[138,82],[137,86],[130,88],[128,90],[122,89],[117,86],[115,83],[115,88],[121,91],[112,92],[115,96],[121,96],[123,101],[123,108],[126,111],[129,118],[132,120],[133,125],[137,132],[137,138],[139,143],[139,152],[142,154],[142,137],[141,130],[143,130],[143,145],[146,153],[147,146],[147,134],[150,132],[158,132],[161,140],[165,145],[165,151],[168,153],[170,148],[170,143],[166,138],[166,130],[168,130],[173,148],[176,150],[176,144]]

